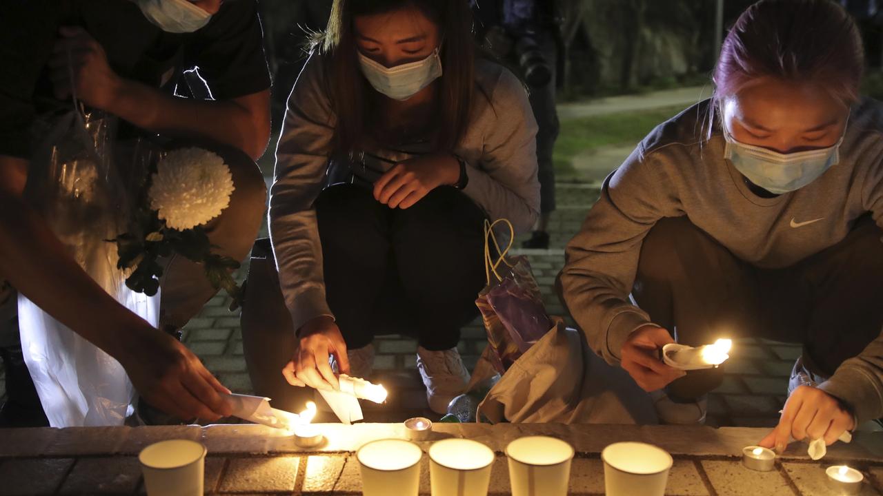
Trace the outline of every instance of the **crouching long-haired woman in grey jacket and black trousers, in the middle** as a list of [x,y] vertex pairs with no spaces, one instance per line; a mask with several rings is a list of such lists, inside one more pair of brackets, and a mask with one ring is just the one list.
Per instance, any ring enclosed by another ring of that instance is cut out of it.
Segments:
[[459,329],[485,282],[483,222],[540,205],[524,86],[476,57],[466,0],[337,0],[288,101],[270,234],[297,386],[371,371],[375,334],[417,338],[433,410],[468,380]]

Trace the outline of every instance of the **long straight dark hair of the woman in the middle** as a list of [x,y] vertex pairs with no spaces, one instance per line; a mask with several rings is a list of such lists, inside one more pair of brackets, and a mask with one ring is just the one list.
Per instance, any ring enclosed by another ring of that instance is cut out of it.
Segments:
[[435,151],[456,147],[469,124],[475,91],[476,43],[466,0],[335,0],[328,29],[316,41],[326,63],[328,91],[337,116],[336,153],[358,152],[370,129],[371,87],[358,64],[353,19],[414,7],[439,27],[444,74],[439,79],[439,132]]

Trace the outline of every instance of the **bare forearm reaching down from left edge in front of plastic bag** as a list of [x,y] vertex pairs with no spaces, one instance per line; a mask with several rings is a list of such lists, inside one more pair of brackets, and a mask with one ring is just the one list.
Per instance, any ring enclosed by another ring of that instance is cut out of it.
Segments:
[[0,194],[0,274],[19,293],[109,355],[126,330],[149,327],[88,276],[42,217]]

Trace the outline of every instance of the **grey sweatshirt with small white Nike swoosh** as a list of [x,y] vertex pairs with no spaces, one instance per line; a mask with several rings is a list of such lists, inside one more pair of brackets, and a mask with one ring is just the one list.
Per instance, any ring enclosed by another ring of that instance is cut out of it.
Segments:
[[[852,109],[840,163],[804,188],[773,199],[751,193],[723,158],[720,126],[706,127],[709,101],[660,124],[604,182],[600,200],[568,244],[564,298],[592,349],[619,362],[629,334],[650,323],[630,304],[644,237],[663,217],[690,221],[736,257],[781,268],[841,242],[857,217],[883,227],[883,105]],[[813,221],[801,229],[796,222]],[[883,301],[881,301],[883,304]],[[845,361],[819,387],[847,402],[859,421],[883,417],[883,337]]]

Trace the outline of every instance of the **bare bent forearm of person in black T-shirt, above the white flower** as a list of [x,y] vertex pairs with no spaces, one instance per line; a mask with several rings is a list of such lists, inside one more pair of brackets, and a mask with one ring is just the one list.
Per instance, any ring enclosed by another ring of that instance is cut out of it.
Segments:
[[115,93],[117,98],[107,110],[140,128],[169,136],[212,139],[237,147],[255,160],[267,147],[268,114],[266,118],[256,116],[238,101],[178,98],[128,79],[118,83]]

